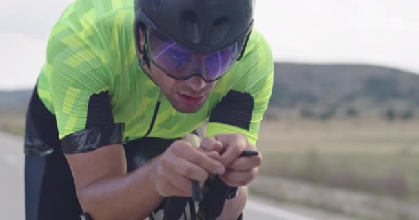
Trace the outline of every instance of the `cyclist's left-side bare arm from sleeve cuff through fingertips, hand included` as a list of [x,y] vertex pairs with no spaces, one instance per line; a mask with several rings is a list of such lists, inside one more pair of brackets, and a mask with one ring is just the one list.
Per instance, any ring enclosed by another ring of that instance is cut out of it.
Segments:
[[225,172],[218,153],[185,141],[128,174],[121,144],[66,157],[83,210],[101,220],[145,219],[163,197],[192,196],[190,179],[202,185],[210,173]]

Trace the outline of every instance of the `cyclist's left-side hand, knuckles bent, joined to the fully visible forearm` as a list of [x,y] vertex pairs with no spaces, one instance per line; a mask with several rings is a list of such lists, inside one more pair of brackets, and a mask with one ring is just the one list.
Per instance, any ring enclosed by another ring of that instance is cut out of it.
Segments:
[[203,151],[190,143],[174,142],[159,159],[156,173],[156,191],[162,197],[192,196],[191,180],[201,186],[210,174],[222,175],[225,167],[216,151]]

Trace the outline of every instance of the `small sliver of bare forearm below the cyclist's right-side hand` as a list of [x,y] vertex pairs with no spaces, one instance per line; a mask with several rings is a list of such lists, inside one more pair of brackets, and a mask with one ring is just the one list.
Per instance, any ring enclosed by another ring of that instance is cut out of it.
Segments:
[[225,201],[221,220],[236,220],[243,212],[247,201],[247,186],[241,186],[238,195]]

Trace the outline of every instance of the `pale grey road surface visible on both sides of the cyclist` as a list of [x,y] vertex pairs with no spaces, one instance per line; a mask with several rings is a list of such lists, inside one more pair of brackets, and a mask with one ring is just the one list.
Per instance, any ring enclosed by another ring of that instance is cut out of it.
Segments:
[[[23,187],[23,140],[21,138],[0,133],[2,152],[0,167],[6,174],[1,181],[0,207],[1,219],[24,219],[24,187]],[[264,220],[318,220],[279,208],[276,204],[264,203],[249,199],[244,211],[245,219]]]

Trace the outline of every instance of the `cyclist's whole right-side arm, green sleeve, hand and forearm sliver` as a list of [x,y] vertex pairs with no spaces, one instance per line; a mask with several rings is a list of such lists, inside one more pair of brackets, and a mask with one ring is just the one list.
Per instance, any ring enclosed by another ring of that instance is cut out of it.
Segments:
[[[229,70],[229,74],[232,79],[226,83],[230,85],[229,90],[211,112],[205,134],[205,137],[213,137],[221,143],[206,149],[220,153],[220,162],[226,166],[221,179],[228,186],[243,188],[256,177],[262,157],[260,153],[256,157],[238,157],[243,150],[256,150],[260,123],[274,83],[272,52],[256,30],[252,31],[245,56]],[[203,145],[201,142],[201,147]],[[247,190],[242,190],[237,198],[225,203],[221,219],[238,217],[238,211],[245,207],[245,192]]]

